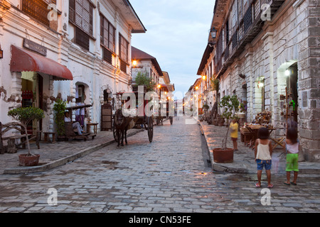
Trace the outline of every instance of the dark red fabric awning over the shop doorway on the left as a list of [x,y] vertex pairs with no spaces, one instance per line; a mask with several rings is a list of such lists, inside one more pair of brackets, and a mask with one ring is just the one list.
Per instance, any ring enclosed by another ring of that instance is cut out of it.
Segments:
[[23,50],[11,45],[11,72],[43,72],[53,75],[55,80],[73,80],[73,74],[67,67],[38,55],[34,52]]

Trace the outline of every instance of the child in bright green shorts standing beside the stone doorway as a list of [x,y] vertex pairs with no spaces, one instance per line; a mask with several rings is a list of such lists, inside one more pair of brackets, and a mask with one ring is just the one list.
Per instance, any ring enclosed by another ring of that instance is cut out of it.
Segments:
[[294,180],[291,182],[293,185],[297,185],[298,177],[298,153],[299,153],[299,141],[298,141],[298,132],[296,128],[288,128],[287,138],[285,140],[285,148],[287,149],[287,182],[284,182],[286,185],[290,185],[290,173],[294,171]]

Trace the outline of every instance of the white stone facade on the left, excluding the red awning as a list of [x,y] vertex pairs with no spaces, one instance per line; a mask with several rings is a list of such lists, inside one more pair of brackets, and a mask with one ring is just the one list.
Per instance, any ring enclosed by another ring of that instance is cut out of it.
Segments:
[[[91,15],[87,13],[87,16],[90,16],[92,25],[91,33],[87,35],[84,34],[84,28],[79,28],[79,21],[70,19],[69,2],[72,1],[53,1],[57,9],[53,11],[55,13],[53,16],[57,18],[53,21],[48,19],[49,25],[43,24],[38,18],[23,11],[21,1],[12,0],[10,4],[8,2],[0,1],[0,43],[5,56],[0,59],[0,118],[2,123],[11,121],[11,118],[6,115],[9,109],[21,106],[23,82],[29,80],[32,85],[28,89],[33,90],[36,94],[33,106],[40,107],[40,104],[43,103],[42,109],[46,114],[43,119],[43,131],[55,131],[53,121],[55,100],[60,97],[68,102],[67,106],[75,106],[78,103],[79,91],[82,91],[84,95],[81,102],[92,104],[92,108],[87,109],[85,114],[85,123],[90,119],[100,125],[101,105],[104,104],[105,91],[108,96],[112,97],[116,92],[131,90],[129,81],[132,79],[130,72],[132,33],[146,31],[132,6],[124,4],[123,1],[86,1],[90,4],[90,7],[86,9],[91,11]],[[8,6],[6,9],[3,7],[4,4]],[[76,4],[76,6],[79,8],[79,5]],[[82,15],[82,24],[85,23],[85,20],[89,21],[85,15],[85,13]],[[111,26],[114,28],[114,48],[110,48],[113,50],[109,50],[111,54],[108,60],[105,60],[105,44],[102,43],[101,38],[102,16],[110,23],[110,28]],[[46,18],[44,17],[43,20],[46,21]],[[87,40],[83,37],[86,37]],[[24,39],[45,47],[46,57],[67,67],[73,74],[73,80],[60,80],[55,77],[55,74],[43,72],[11,72],[9,65],[11,45],[25,50]],[[127,44],[127,50],[120,50],[122,48],[120,39],[124,40],[124,46]],[[79,44],[83,42],[87,48]],[[127,56],[121,59],[123,51]],[[39,98],[37,87],[40,77],[43,80],[42,100]]]

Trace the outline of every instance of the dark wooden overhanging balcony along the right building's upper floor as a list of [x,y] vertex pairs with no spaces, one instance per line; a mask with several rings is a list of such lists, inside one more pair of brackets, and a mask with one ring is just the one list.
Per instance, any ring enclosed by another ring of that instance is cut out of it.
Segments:
[[[285,0],[256,0],[252,1],[250,7],[245,11],[243,17],[238,23],[238,28],[235,29],[234,33],[230,36],[230,40],[226,43],[225,49],[221,50],[223,46],[221,40],[222,35],[219,35],[218,42],[216,45],[217,59],[215,62],[215,74],[222,75],[228,67],[233,64],[236,57],[238,57],[244,50],[245,45],[251,43],[252,40],[262,31],[262,26],[265,21],[262,20],[262,9],[263,4],[269,4],[271,10],[271,18],[274,13],[278,11],[280,6]],[[228,12],[225,12],[228,14]],[[238,17],[239,18],[239,17]],[[220,32],[221,34],[221,32]],[[222,53],[221,53],[222,52]]]

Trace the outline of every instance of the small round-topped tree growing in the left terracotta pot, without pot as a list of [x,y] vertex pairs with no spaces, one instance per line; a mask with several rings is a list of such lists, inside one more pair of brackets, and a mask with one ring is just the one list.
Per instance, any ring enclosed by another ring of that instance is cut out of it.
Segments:
[[43,110],[38,107],[18,107],[16,109],[12,109],[8,112],[8,115],[16,119],[16,121],[20,122],[24,128],[26,133],[26,144],[28,148],[28,156],[31,156],[30,153],[30,143],[28,138],[27,126],[33,120],[41,120],[44,118]]

